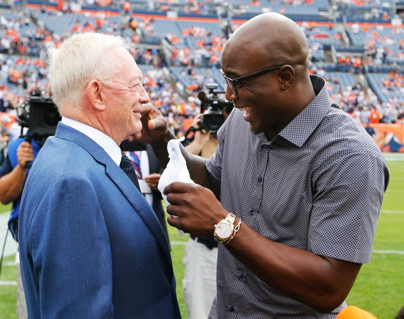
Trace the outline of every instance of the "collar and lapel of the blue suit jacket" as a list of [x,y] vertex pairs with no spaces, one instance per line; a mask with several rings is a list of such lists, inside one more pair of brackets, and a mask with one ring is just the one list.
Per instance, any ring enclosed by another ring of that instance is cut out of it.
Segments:
[[87,135],[63,123],[58,124],[55,136],[76,143],[83,149],[87,150],[97,162],[105,165],[107,175],[121,190],[124,196],[128,199],[129,203],[135,209],[136,213],[145,222],[151,233],[157,239],[169,263],[171,264],[168,242],[156,214],[147,203],[145,197],[138,191],[138,189],[133,185],[128,176],[126,176],[119,166],[112,161],[105,150],[103,150]]

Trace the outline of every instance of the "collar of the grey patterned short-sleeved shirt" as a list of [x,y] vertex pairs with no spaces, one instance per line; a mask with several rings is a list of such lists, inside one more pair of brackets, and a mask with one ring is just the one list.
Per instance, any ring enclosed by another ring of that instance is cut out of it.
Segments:
[[294,145],[301,147],[309,138],[324,116],[331,109],[332,100],[326,81],[317,75],[310,75],[316,97],[290,122],[279,135]]

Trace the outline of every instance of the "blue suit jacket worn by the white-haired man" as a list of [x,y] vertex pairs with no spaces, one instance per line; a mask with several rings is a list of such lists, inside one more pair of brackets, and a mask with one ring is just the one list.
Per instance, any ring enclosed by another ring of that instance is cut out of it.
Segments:
[[62,123],[27,178],[19,249],[29,318],[181,318],[155,213],[98,144]]

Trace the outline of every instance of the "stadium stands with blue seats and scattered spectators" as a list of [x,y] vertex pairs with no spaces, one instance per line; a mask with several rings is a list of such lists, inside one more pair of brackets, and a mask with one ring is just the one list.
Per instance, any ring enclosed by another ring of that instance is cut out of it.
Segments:
[[[356,99],[371,99],[367,103],[371,107],[394,106],[401,113],[404,109],[404,29],[389,24],[396,14],[393,0],[343,0],[335,1],[334,7],[328,0],[230,0],[226,7],[219,0],[132,0],[128,14],[114,1],[80,1],[81,8],[91,12],[48,10],[56,9],[54,0],[29,2],[40,6],[2,10],[0,15],[0,88],[14,99],[13,105],[33,89],[46,87],[43,60],[49,46],[74,32],[97,31],[117,33],[129,41],[153,103],[167,116],[192,116],[198,112],[196,93],[206,83],[216,82],[219,90],[225,89],[219,72],[226,41],[223,21],[230,23],[227,31],[232,32],[245,18],[275,11],[301,25],[309,43],[312,73],[327,79],[331,95],[347,110],[350,102],[344,96],[352,88],[360,88],[353,90]],[[69,5],[70,1],[64,1],[64,9]],[[170,10],[179,18],[167,19]],[[369,12],[388,23],[360,23],[368,20]],[[354,23],[344,23],[357,15]],[[389,77],[392,70],[394,78]],[[379,102],[373,102],[374,96]]]

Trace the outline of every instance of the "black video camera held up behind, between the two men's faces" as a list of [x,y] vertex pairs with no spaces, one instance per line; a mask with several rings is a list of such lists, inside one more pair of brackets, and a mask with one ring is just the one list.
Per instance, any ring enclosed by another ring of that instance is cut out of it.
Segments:
[[208,83],[206,88],[209,90],[208,94],[203,91],[198,93],[198,98],[201,100],[201,113],[203,113],[200,127],[202,130],[216,133],[224,123],[223,111],[230,113],[233,109],[233,102],[220,98],[219,94],[225,92],[217,90],[217,83]]

